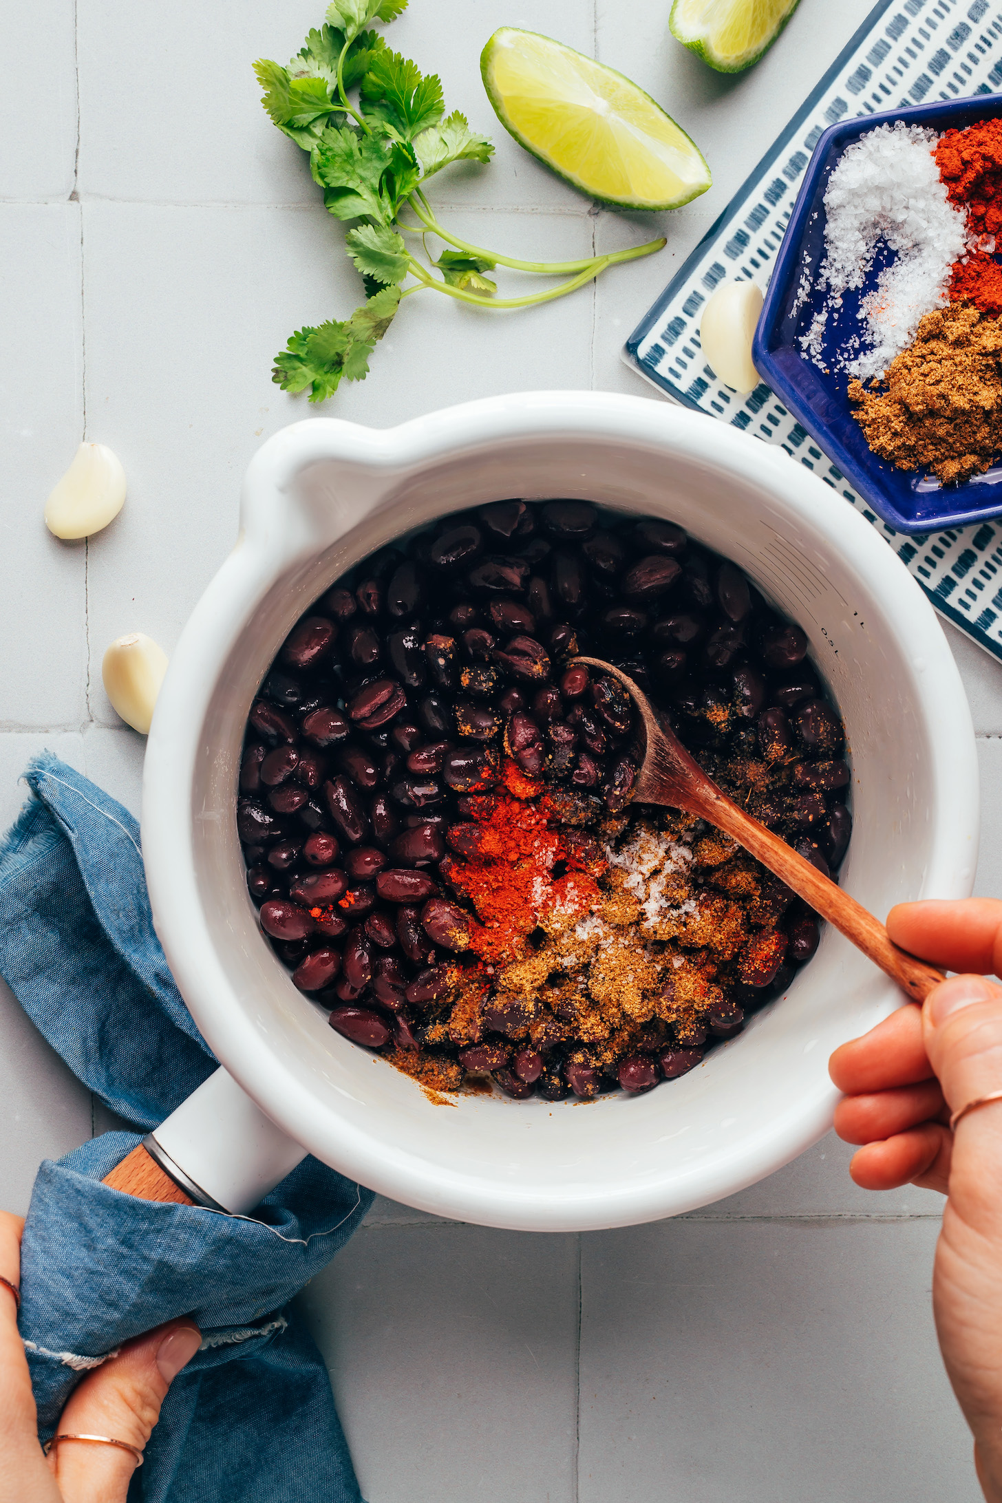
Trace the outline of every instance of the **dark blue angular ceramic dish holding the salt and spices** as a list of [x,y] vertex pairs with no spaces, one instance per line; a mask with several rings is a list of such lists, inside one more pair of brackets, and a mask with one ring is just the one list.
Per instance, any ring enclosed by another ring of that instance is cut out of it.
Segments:
[[[963,526],[1002,516],[1002,464],[993,466],[985,475],[978,475],[963,485],[940,485],[936,476],[895,469],[879,458],[867,445],[862,428],[852,415],[846,395],[849,377],[834,368],[826,376],[801,353],[798,335],[810,328],[823,295],[811,290],[796,311],[793,302],[805,266],[811,271],[811,277],[816,277],[823,260],[825,189],[838,158],[852,141],[877,125],[892,125],[895,120],[942,132],[951,126],[963,129],[976,120],[999,114],[1002,101],[997,96],[973,95],[970,99],[955,99],[949,104],[864,114],[825,131],[817,141],[793,207],[756,329],[753,359],[762,379],[843,470],[849,484],[898,532],[933,532],[939,528]],[[877,257],[862,292],[849,292],[843,298],[843,313],[837,325],[841,335],[837,337],[844,338],[846,329],[853,326],[859,298],[871,290],[882,265],[885,263]]]

